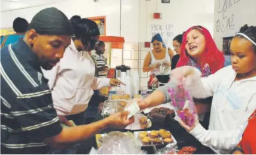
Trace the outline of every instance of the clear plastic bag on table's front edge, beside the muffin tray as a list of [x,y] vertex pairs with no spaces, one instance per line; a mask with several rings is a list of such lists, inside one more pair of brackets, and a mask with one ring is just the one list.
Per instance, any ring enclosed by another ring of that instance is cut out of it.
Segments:
[[97,154],[146,154],[134,137],[122,132],[110,132],[101,139]]

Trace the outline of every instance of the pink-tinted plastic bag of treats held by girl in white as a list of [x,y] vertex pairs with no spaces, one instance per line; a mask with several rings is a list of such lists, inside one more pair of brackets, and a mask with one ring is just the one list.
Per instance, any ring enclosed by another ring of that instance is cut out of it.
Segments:
[[176,110],[177,115],[186,125],[194,125],[196,114],[195,103],[192,100],[191,94],[185,88],[184,80],[179,81],[171,79],[171,83],[172,86],[168,88],[168,93],[173,103],[174,110]]

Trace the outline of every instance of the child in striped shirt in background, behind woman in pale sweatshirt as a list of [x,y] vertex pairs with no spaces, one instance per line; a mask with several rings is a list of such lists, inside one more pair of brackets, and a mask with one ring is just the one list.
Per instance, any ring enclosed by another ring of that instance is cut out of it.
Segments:
[[107,58],[104,57],[105,43],[103,41],[98,41],[95,44],[95,53],[92,54],[92,59],[94,60],[96,70],[95,76],[98,78],[105,78],[107,76],[107,71],[109,67],[106,66]]

